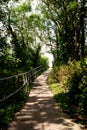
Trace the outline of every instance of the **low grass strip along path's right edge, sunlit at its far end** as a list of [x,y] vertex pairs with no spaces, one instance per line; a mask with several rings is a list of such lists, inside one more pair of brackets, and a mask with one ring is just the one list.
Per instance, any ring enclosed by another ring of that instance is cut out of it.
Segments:
[[53,92],[54,99],[56,100],[58,106],[61,107],[62,111],[67,113],[71,118],[74,119],[75,122],[79,122],[85,124],[81,118],[78,118],[78,113],[76,113],[76,109],[74,104],[70,106],[69,93],[65,92],[65,89],[61,87],[61,85],[55,83],[49,85],[51,91]]

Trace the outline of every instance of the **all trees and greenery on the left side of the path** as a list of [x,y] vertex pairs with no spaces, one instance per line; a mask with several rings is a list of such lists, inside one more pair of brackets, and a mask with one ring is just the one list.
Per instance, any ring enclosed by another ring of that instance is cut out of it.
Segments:
[[[41,54],[43,19],[32,13],[30,1],[0,1],[0,100],[18,90],[24,84],[27,74],[19,75],[43,65],[48,68],[48,59]],[[33,79],[18,93],[0,102],[0,129],[5,127],[26,101]]]

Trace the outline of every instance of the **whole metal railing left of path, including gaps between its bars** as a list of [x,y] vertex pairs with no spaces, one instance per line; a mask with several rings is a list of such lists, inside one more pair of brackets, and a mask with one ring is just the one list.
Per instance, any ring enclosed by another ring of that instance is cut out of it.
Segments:
[[1,78],[0,103],[17,94],[22,88],[29,86],[29,83],[33,82],[33,80],[43,72],[43,68],[44,66],[41,65],[25,73]]

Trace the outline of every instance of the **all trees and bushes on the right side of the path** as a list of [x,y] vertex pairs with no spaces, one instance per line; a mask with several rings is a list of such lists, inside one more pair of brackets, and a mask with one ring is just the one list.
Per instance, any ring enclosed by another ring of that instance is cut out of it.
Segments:
[[43,0],[39,8],[54,56],[48,83],[66,111],[87,120],[87,1]]

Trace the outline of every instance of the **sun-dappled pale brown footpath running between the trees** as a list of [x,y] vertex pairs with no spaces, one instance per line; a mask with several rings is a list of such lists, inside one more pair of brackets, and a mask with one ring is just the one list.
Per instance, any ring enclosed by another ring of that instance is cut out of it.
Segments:
[[8,130],[81,130],[55,103],[46,84],[49,70],[34,81],[29,99]]

